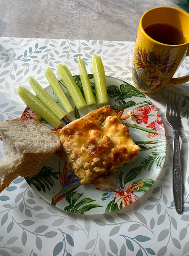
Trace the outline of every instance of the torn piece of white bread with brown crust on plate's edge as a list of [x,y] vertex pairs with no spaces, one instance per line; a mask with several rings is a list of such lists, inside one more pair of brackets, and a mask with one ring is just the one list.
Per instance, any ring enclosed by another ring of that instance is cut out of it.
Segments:
[[60,144],[58,136],[36,119],[0,122],[0,134],[6,142],[6,156],[0,159],[0,192],[18,176],[33,177],[40,172]]

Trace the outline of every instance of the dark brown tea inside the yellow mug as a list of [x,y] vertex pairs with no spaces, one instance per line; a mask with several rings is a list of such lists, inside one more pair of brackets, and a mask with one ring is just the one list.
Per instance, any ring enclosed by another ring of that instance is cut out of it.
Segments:
[[153,40],[166,45],[182,45],[187,42],[183,32],[170,24],[155,23],[144,28],[144,31]]

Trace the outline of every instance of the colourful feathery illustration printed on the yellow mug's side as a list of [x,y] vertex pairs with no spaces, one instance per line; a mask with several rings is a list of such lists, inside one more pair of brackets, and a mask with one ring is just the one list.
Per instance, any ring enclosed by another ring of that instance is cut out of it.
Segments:
[[163,81],[171,78],[176,59],[172,53],[157,54],[155,51],[135,47],[132,79],[141,89],[155,91],[161,88]]

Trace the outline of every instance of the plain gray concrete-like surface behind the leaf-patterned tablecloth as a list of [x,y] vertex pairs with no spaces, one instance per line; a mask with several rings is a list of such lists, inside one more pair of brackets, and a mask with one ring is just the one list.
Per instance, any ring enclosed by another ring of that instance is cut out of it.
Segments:
[[144,12],[183,0],[0,0],[0,36],[134,41]]

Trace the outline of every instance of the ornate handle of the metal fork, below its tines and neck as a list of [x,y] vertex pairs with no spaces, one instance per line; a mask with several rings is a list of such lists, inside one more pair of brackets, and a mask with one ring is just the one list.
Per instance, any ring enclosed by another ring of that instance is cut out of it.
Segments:
[[173,197],[175,209],[178,213],[183,212],[183,177],[181,169],[181,151],[178,130],[174,130],[173,145]]

